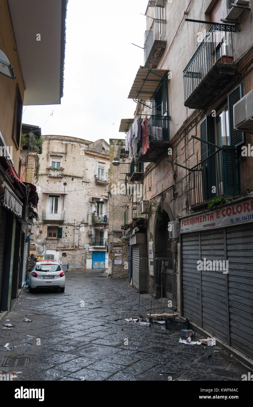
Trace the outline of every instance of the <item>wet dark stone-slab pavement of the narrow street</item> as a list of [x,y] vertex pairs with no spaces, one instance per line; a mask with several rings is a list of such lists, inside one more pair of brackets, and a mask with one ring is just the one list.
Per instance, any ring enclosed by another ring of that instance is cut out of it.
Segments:
[[[126,279],[102,273],[69,271],[65,293],[23,289],[1,320],[1,327],[14,325],[0,330],[2,374],[22,371],[17,381],[241,381],[247,374],[248,368],[218,346],[178,344],[179,331],[126,322],[138,314],[138,294]],[[32,322],[23,322],[25,316]],[[6,367],[6,357],[29,363]]]

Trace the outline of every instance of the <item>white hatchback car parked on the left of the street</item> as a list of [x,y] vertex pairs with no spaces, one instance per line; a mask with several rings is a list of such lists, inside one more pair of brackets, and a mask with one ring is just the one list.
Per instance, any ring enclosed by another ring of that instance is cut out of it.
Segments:
[[28,290],[30,293],[37,288],[59,288],[61,293],[64,293],[65,274],[60,264],[52,260],[39,261],[31,270],[27,271],[29,271]]

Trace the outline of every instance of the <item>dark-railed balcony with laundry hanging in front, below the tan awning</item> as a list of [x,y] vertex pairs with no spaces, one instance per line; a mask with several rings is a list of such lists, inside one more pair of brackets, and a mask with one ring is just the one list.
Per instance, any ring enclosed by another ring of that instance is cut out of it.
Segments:
[[152,115],[148,119],[149,149],[139,152],[138,162],[155,162],[169,146],[170,116]]

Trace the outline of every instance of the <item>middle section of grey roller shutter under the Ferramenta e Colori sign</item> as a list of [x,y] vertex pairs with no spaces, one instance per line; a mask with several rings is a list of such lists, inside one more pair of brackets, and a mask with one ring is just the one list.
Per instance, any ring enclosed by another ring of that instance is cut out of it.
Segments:
[[[224,260],[223,229],[201,232],[201,260]],[[227,304],[225,274],[201,271],[203,328],[227,341]]]

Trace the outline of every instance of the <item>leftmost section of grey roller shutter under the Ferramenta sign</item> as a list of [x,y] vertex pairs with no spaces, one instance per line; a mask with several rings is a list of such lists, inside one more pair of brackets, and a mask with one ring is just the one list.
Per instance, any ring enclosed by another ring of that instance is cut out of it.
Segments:
[[200,272],[197,271],[199,260],[199,232],[182,236],[182,278],[184,316],[200,325]]

